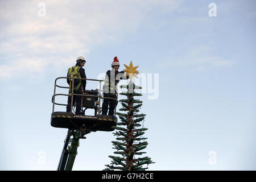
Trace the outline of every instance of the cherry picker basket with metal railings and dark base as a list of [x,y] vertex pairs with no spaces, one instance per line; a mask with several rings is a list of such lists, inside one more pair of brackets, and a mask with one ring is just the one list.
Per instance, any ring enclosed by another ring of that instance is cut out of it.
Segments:
[[[51,126],[66,128],[69,130],[77,131],[114,131],[113,126],[117,126],[117,117],[114,115],[101,115],[101,100],[104,99],[101,95],[100,89],[96,90],[85,90],[83,94],[75,94],[73,91],[69,94],[56,93],[56,87],[69,89],[67,86],[57,85],[56,82],[59,79],[67,79],[71,77],[59,77],[55,80],[54,94],[52,96],[52,114],[51,114]],[[73,78],[74,80],[76,78]],[[101,82],[104,80],[94,80],[88,78],[79,78],[80,80],[85,79],[86,81],[98,81]],[[74,81],[72,81],[72,87],[74,88]],[[59,104],[55,102],[56,96],[67,96],[72,97],[71,100],[71,111],[55,111],[55,105],[67,106],[67,104]],[[72,113],[73,106],[73,97],[82,96],[82,107],[85,109],[94,109],[94,115],[76,115]],[[109,98],[114,99],[114,98]],[[115,99],[114,99],[115,100]]]

